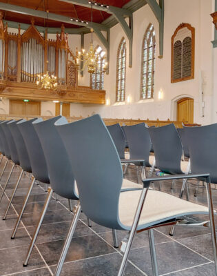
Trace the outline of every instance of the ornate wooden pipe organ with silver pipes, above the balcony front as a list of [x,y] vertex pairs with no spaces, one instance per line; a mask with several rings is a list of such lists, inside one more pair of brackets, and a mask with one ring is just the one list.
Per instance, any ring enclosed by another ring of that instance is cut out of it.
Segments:
[[[76,61],[64,29],[62,25],[61,34],[56,34],[56,40],[48,40],[48,34],[45,32],[43,37],[34,26],[34,20],[23,34],[20,28],[18,34],[8,32],[7,26],[3,28],[0,34],[1,79],[35,83],[37,75],[48,70],[56,75],[59,86],[68,86],[68,83],[77,86]],[[68,63],[74,66],[74,80],[67,77]]]

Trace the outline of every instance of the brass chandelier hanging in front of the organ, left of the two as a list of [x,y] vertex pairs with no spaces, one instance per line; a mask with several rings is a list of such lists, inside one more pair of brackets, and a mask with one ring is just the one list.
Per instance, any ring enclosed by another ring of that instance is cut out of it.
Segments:
[[[49,10],[47,10],[47,14],[49,14]],[[48,17],[47,17],[48,23]],[[48,27],[47,27],[48,33]],[[48,39],[49,41],[49,39]],[[48,60],[46,61],[48,67]],[[37,75],[37,86],[39,89],[46,89],[46,90],[55,90],[57,87],[56,76],[50,75],[50,72],[47,70],[45,74],[38,74]]]

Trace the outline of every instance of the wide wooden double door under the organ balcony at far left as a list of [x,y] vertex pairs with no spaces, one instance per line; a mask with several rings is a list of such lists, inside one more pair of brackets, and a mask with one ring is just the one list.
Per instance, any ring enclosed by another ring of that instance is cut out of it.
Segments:
[[10,115],[41,115],[41,101],[22,101],[10,99]]

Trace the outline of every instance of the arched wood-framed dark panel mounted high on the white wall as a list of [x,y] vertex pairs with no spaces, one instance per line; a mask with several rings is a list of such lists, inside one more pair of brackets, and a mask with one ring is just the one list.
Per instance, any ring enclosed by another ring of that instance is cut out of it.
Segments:
[[171,43],[171,82],[194,79],[195,28],[181,23]]

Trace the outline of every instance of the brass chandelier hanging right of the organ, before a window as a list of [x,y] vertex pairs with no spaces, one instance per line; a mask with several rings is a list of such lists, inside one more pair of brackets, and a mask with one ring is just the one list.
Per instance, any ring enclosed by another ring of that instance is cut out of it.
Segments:
[[[93,2],[89,1],[91,3],[91,27],[93,23]],[[94,50],[93,46],[93,32],[94,29],[90,29],[91,32],[91,43],[90,43],[90,48],[88,52],[85,51],[85,49],[81,49],[81,51],[78,51],[76,48],[76,67],[78,70],[83,71],[85,67],[87,66],[87,70],[90,74],[93,74],[95,72],[106,72],[107,70],[107,62],[103,62],[102,70],[99,69],[99,61],[101,59],[105,60],[105,52],[97,52]],[[83,62],[83,67],[81,68],[81,62]]]

